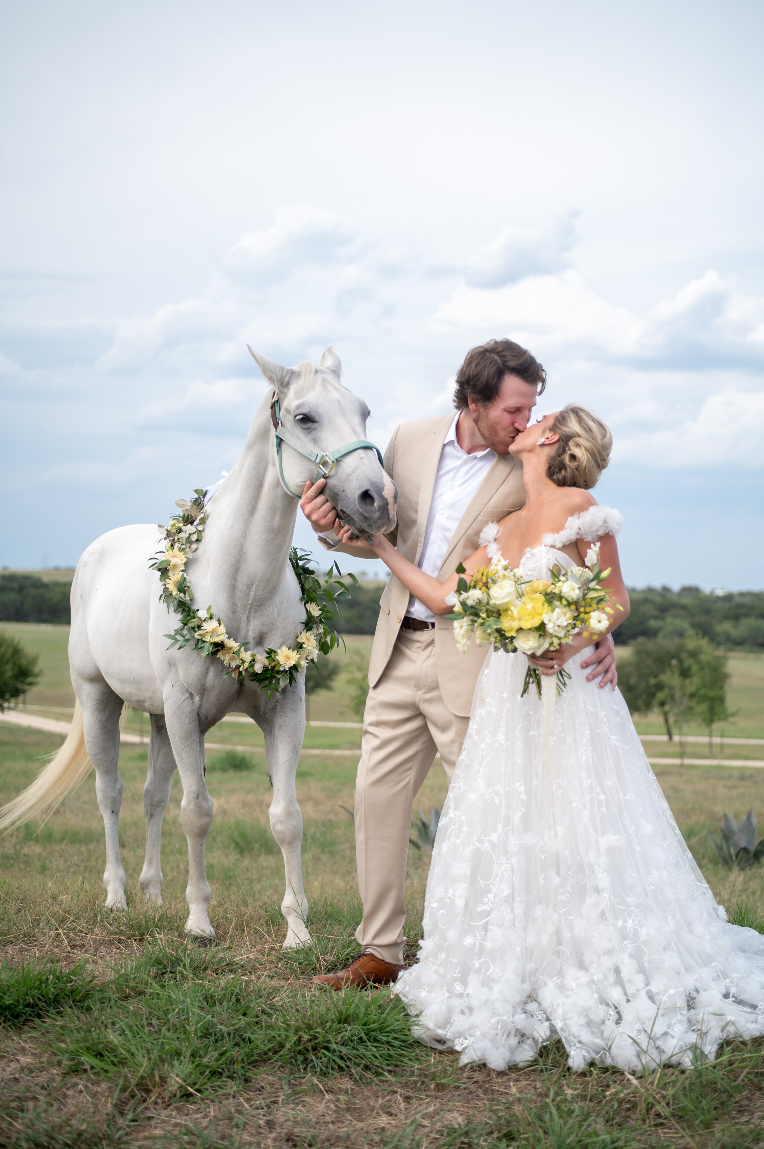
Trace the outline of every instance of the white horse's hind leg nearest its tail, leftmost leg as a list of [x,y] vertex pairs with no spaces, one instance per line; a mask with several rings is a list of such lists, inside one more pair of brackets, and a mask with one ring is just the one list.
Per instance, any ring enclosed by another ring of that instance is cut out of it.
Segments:
[[106,831],[106,887],[107,909],[125,905],[125,872],[119,858],[119,808],[122,779],[119,778],[119,716],[122,699],[106,683],[78,683],[78,697],[83,708],[85,747],[95,766],[95,795]]

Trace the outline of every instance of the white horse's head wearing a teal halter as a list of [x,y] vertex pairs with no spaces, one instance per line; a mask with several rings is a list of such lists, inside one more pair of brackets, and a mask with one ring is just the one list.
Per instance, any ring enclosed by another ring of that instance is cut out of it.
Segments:
[[[321,363],[281,367],[273,360],[249,352],[278,399],[278,419],[284,437],[276,438],[276,463],[280,463],[283,484],[293,494],[302,494],[306,480],[314,481],[323,465],[326,496],[337,507],[340,518],[357,534],[386,534],[395,526],[395,484],[385,473],[371,446],[341,453],[342,448],[366,439],[369,408],[362,399],[340,383],[342,364],[331,347]],[[277,422],[271,406],[273,422]],[[276,454],[279,448],[280,461]],[[300,450],[321,456],[316,463]],[[338,454],[335,461],[326,456]]]

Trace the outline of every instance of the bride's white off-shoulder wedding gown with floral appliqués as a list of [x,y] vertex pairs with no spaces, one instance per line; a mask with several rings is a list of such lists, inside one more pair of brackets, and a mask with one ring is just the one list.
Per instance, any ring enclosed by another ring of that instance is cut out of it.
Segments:
[[[622,523],[592,507],[526,552],[522,570],[573,566],[556,547]],[[626,703],[586,681],[582,657],[556,699],[547,779],[541,704],[533,689],[520,699],[525,657],[492,651],[478,680],[419,961],[394,987],[418,1036],[460,1050],[460,1064],[504,1070],[558,1036],[574,1070],[641,1072],[764,1033],[764,936],[726,921]]]

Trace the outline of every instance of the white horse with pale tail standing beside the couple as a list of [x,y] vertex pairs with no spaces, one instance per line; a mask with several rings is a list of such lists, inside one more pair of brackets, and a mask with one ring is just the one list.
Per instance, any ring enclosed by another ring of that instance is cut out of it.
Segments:
[[[327,472],[329,496],[358,533],[392,530],[396,491],[376,448],[365,440],[369,409],[340,383],[340,361],[331,347],[318,368],[312,363],[284,368],[252,354],[275,391],[261,403],[241,455],[209,503],[204,538],[190,557],[186,574],[195,606],[203,609],[209,603],[227,633],[248,642],[254,653],[293,646],[306,622],[288,554],[298,492],[316,477],[316,461],[319,472]],[[217,658],[202,658],[193,647],[168,649],[167,634],[175,630],[177,616],[160,601],[157,573],[148,568],[160,545],[155,526],[123,526],[97,539],[79,560],[71,587],[69,665],[77,695],[71,732],[36,781],[0,810],[0,828],[47,817],[94,765],[106,828],[106,904],[124,905],[117,836],[119,717],[125,703],[148,711],[146,861],[140,885],[146,899],[161,903],[162,816],[177,766],[183,785],[180,823],[188,842],[185,928],[214,938],[204,872],[204,841],[213,820],[204,734],[230,711],[244,712],[265,737],[273,787],[270,824],[286,872],[284,944],[308,944],[302,816],[295,797],[304,674],[269,699],[253,681],[237,683],[226,676]]]

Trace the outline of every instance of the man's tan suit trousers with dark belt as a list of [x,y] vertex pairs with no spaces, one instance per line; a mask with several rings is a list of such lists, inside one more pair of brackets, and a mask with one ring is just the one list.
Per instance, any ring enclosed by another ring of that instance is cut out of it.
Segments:
[[369,691],[355,786],[355,850],[363,920],[355,936],[386,962],[403,961],[411,804],[435,753],[450,784],[470,719],[443,702],[433,631],[401,631]]

